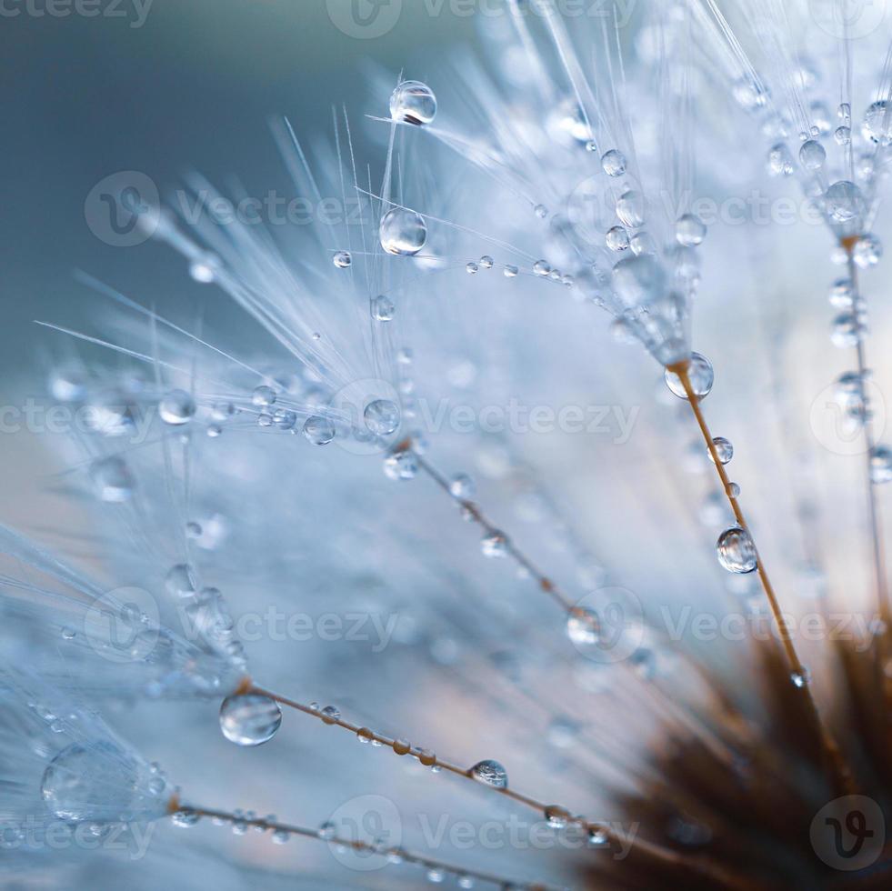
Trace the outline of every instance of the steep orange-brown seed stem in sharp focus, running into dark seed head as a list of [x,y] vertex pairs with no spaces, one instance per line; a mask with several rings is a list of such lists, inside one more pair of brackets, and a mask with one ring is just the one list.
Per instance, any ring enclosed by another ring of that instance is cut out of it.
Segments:
[[816,732],[821,744],[821,751],[823,753],[827,769],[830,772],[830,776],[833,780],[833,785],[840,792],[850,793],[854,791],[851,771],[848,769],[845,758],[842,756],[842,753],[839,750],[839,746],[837,746],[836,740],[831,735],[829,729],[827,728],[827,725],[822,720],[820,712],[817,708],[817,703],[815,702],[815,698],[814,696],[812,696],[811,690],[808,688],[806,668],[805,666],[803,666],[802,661],[799,659],[796,647],[793,645],[793,639],[790,635],[789,629],[787,628],[787,623],[784,620],[784,616],[781,613],[780,604],[777,601],[777,595],[775,594],[774,586],[772,586],[771,581],[768,578],[765,565],[763,564],[762,559],[759,556],[756,539],[749,531],[747,519],[744,516],[743,509],[741,508],[739,500],[737,498],[737,488],[731,483],[731,480],[727,476],[725,466],[719,459],[716,444],[713,441],[713,436],[709,431],[707,420],[703,415],[702,409],[700,408],[699,397],[694,392],[694,387],[691,384],[691,378],[689,374],[690,361],[685,360],[684,362],[679,362],[675,365],[668,365],[667,370],[672,374],[677,375],[678,379],[681,381],[681,384],[685,389],[685,395],[687,395],[687,403],[691,406],[691,411],[694,413],[694,417],[697,420],[697,426],[700,428],[700,433],[703,435],[703,439],[707,445],[707,449],[709,450],[709,455],[712,457],[712,463],[716,467],[718,478],[721,481],[728,504],[731,506],[731,510],[734,512],[734,516],[737,520],[737,525],[740,526],[740,528],[747,533],[747,536],[749,536],[750,540],[753,542],[753,547],[756,553],[757,575],[759,577],[759,581],[762,583],[762,589],[765,592],[768,606],[771,608],[771,615],[773,616],[775,624],[777,626],[777,632],[780,636],[785,656],[787,656],[787,665],[789,666],[791,676],[800,679],[800,683],[797,686],[800,686],[803,694],[803,702],[816,728]]

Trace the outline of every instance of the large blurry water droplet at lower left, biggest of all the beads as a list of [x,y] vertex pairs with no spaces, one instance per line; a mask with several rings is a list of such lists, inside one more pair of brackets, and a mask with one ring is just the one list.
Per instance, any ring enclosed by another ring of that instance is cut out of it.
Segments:
[[60,820],[115,822],[138,794],[135,760],[108,741],[72,743],[46,766],[40,792]]

